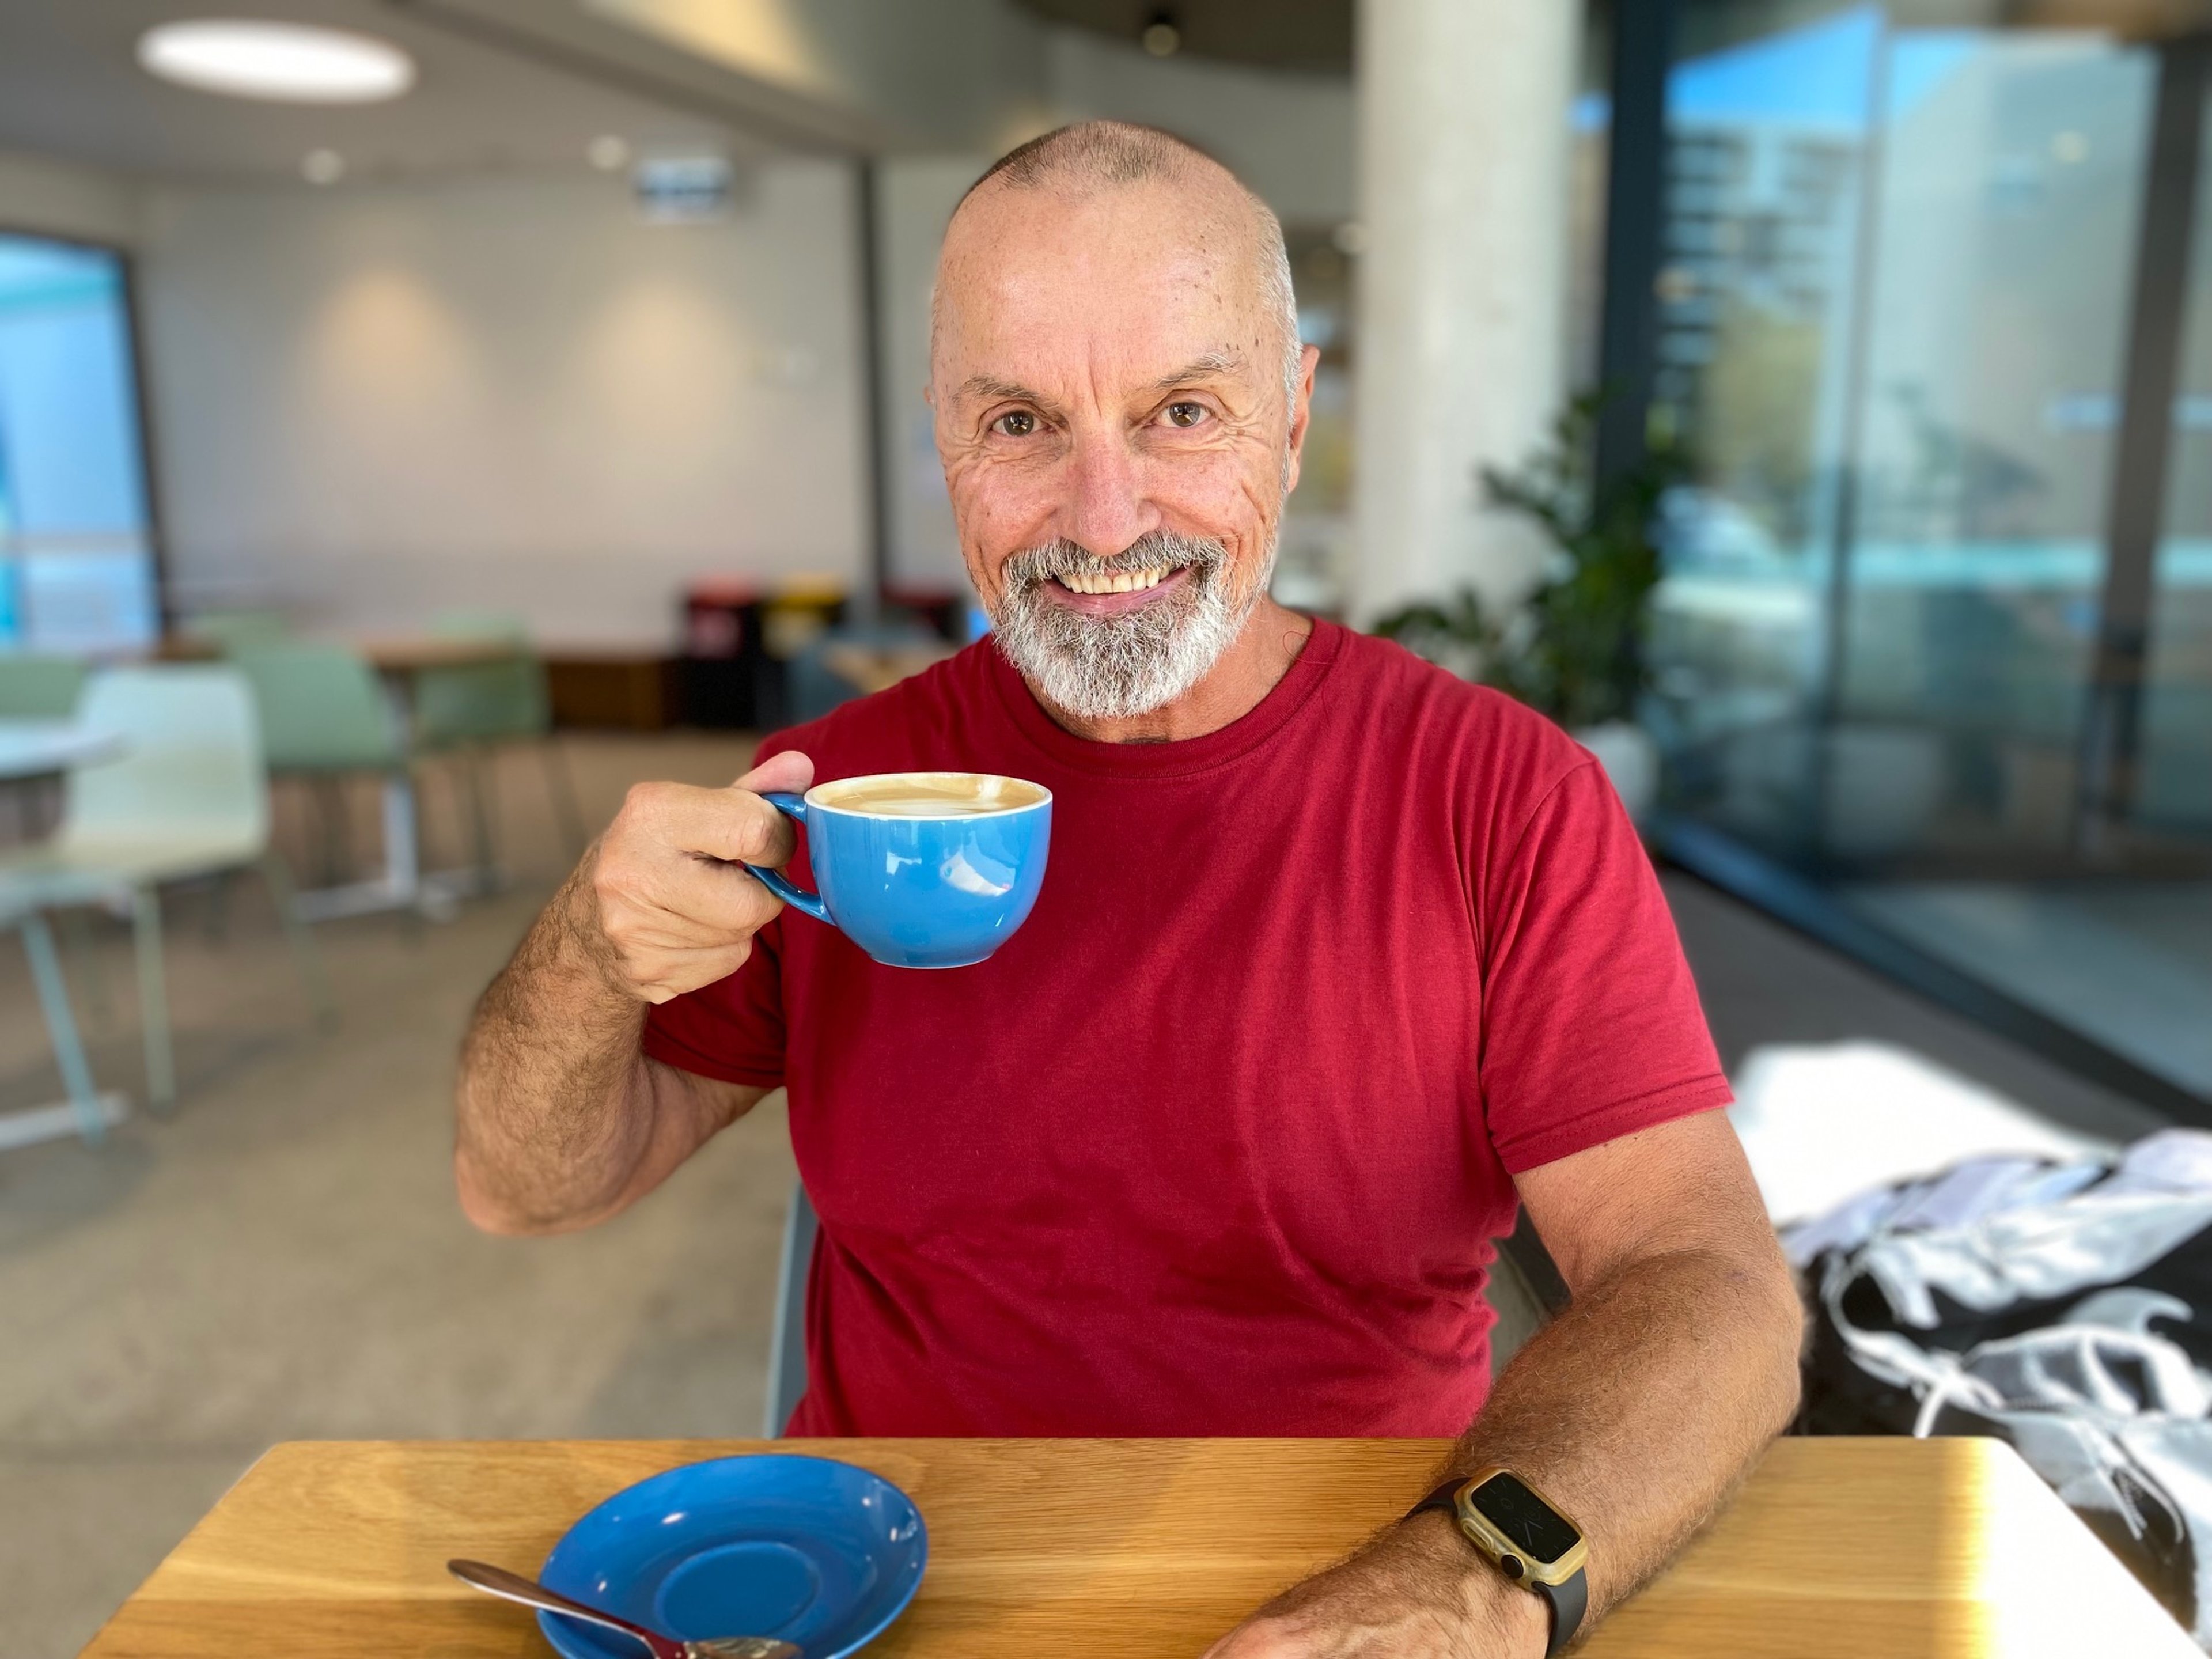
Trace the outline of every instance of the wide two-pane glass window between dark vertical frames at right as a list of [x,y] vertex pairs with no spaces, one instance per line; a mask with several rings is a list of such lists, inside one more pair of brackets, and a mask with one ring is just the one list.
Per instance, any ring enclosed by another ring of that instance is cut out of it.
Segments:
[[2064,852],[2152,93],[1876,7],[1674,66],[1677,805],[1816,867]]

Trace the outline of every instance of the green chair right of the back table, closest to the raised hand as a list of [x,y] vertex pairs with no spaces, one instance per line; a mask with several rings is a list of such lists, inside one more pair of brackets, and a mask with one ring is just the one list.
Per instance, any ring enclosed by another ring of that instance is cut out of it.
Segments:
[[449,639],[489,639],[509,650],[491,661],[425,668],[414,679],[414,741],[418,754],[451,757],[460,768],[469,821],[476,832],[478,878],[495,880],[493,790],[489,759],[507,743],[535,743],[544,761],[546,796],[568,854],[584,852],[584,814],[568,776],[568,757],[553,734],[553,695],[546,666],[531,650],[520,617],[447,611],[431,633]]

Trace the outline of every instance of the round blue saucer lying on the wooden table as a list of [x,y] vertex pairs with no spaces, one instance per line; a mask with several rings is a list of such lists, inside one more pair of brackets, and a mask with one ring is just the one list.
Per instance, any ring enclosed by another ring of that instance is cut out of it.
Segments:
[[[827,1458],[714,1458],[626,1486],[553,1546],[549,1590],[686,1641],[783,1637],[858,1652],[922,1582],[929,1531],[907,1493]],[[639,1659],[597,1626],[540,1613],[564,1659]]]

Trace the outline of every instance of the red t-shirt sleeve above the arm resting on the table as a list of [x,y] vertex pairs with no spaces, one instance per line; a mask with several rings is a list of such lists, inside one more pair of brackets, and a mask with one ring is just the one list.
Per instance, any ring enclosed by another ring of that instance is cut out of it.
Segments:
[[1493,860],[1482,909],[1482,1104],[1520,1175],[1725,1106],[1674,918],[1597,761]]

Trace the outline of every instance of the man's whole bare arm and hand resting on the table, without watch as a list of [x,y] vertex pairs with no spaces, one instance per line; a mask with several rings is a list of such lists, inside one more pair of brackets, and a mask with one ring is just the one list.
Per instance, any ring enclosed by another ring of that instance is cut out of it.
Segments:
[[[1787,1427],[1801,1312],[1721,1113],[1528,1170],[1520,1190],[1573,1305],[1513,1356],[1438,1480],[1502,1464],[1559,1504],[1590,1544],[1588,1628]],[[1427,1513],[1263,1608],[1217,1655],[1502,1659],[1544,1652],[1546,1617]]]

